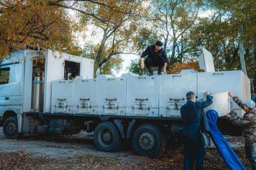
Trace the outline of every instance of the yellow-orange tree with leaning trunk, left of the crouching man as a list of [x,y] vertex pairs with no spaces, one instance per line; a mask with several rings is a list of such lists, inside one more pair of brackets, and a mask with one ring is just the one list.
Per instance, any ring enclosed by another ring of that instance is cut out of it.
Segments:
[[94,58],[94,75],[111,58],[118,58],[117,56],[120,54],[134,53],[131,40],[142,13],[142,6],[139,1],[116,0],[105,1],[105,4],[116,6],[115,10],[102,5],[84,4],[90,13],[97,13],[97,17],[83,15],[81,18],[82,25],[94,25],[102,32],[97,49],[93,47],[97,54]]

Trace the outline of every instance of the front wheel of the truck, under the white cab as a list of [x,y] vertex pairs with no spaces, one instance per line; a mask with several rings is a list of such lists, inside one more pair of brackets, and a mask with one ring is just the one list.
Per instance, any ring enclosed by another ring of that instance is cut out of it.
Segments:
[[4,136],[7,139],[17,139],[20,137],[18,133],[18,121],[17,117],[9,117],[3,124]]

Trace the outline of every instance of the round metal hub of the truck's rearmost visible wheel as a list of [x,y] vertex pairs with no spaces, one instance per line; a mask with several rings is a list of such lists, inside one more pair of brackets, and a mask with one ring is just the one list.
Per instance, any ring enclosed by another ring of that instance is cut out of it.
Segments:
[[139,137],[139,145],[143,150],[153,149],[155,146],[154,135],[149,132],[144,132]]

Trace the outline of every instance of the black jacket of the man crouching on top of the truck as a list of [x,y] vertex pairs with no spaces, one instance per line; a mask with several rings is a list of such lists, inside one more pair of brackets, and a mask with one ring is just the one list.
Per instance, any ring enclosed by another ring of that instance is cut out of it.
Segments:
[[156,60],[158,57],[163,57],[164,62],[167,63],[167,55],[163,48],[161,48],[158,52],[155,52],[155,45],[148,46],[141,54],[141,58],[145,58],[147,55],[151,60]]

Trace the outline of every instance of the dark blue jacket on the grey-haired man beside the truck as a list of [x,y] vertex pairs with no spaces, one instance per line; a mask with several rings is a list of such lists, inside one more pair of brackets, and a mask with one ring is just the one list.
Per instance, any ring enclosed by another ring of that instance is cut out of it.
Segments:
[[187,101],[187,103],[180,108],[181,117],[183,118],[182,135],[183,137],[196,137],[200,135],[201,124],[202,132],[210,131],[209,123],[203,109],[212,104],[212,96],[207,95],[206,101]]

